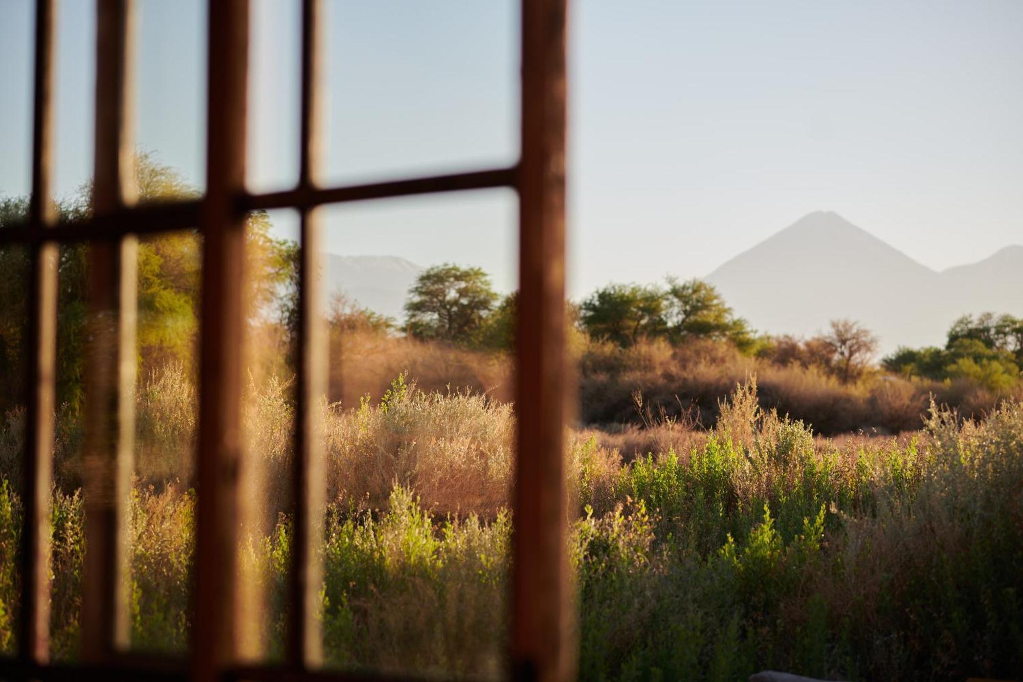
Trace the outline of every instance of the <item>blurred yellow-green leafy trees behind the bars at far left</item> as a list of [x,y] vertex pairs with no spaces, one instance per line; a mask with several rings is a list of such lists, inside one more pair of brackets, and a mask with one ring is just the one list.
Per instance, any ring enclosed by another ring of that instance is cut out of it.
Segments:
[[[135,179],[140,202],[195,197],[194,188],[152,156],[135,160]],[[86,183],[71,198],[56,202],[60,221],[85,218],[91,212],[92,185]],[[24,220],[27,198],[0,199],[0,228]],[[247,233],[252,276],[250,299],[263,310],[278,305],[281,316],[291,300],[288,283],[296,279],[298,248],[294,242],[269,236],[265,212],[251,214]],[[86,336],[86,283],[88,245],[61,245],[57,263],[57,401],[73,411],[82,399],[84,342]],[[10,301],[0,309],[0,382],[5,387],[23,386],[25,377],[24,327],[28,290],[28,252],[18,247],[0,248],[0,291],[10,292]],[[197,331],[202,280],[202,241],[195,230],[148,236],[138,247],[138,354],[143,371],[163,363],[193,361],[192,344]],[[20,396],[0,398],[6,411]]]

